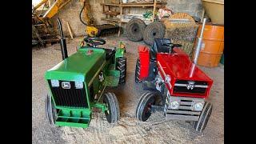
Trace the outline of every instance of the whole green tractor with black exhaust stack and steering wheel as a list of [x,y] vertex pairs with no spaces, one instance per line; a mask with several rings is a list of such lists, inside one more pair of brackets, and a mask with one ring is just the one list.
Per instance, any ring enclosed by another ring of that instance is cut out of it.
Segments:
[[103,39],[84,38],[86,46],[80,46],[68,57],[59,19],[58,28],[63,61],[45,74],[50,90],[46,96],[46,118],[54,126],[86,128],[92,113],[102,111],[107,122],[118,122],[118,99],[104,90],[106,86],[126,82],[124,49],[99,48],[106,43]]

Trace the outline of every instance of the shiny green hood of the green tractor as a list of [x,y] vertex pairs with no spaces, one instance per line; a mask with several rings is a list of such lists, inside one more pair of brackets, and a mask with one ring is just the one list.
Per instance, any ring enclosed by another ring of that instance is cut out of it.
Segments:
[[[90,50],[90,51],[89,51]],[[80,49],[52,69],[46,71],[46,79],[90,82],[98,68],[105,64],[105,50],[98,48]],[[95,69],[97,67],[97,69]]]

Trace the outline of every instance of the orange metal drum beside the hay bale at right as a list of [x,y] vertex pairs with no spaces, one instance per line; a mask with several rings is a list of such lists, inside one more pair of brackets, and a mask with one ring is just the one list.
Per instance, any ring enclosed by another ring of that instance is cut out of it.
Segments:
[[[198,28],[198,35],[202,25]],[[198,57],[198,65],[215,67],[218,66],[224,50],[224,26],[207,25],[202,36],[202,47]],[[193,54],[194,55],[194,54]]]

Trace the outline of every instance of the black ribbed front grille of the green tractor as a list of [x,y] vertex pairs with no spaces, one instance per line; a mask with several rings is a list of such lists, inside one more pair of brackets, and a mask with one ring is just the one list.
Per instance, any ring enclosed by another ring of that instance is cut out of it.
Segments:
[[48,82],[57,106],[88,108],[86,91],[84,88],[76,89],[74,86],[74,82],[70,82],[70,89],[63,89],[62,82],[65,81],[58,81],[58,87],[51,86],[50,80],[48,80]]

